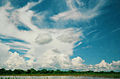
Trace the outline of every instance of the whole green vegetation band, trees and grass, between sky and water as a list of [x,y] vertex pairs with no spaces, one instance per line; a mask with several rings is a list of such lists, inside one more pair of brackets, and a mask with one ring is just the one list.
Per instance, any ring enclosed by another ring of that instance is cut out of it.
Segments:
[[112,77],[112,78],[120,78],[120,72],[93,72],[93,71],[61,71],[61,70],[5,70],[0,69],[1,76],[96,76],[96,77]]

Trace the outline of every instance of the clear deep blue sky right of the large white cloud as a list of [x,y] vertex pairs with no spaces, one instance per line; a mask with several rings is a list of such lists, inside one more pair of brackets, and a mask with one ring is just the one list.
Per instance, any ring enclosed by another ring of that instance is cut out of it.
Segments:
[[[89,25],[93,27],[85,32],[85,43],[75,49],[75,56],[80,55],[89,64],[98,63],[102,59],[107,62],[120,60],[119,4],[118,0],[108,1],[102,8],[102,14],[89,22]],[[82,49],[86,46],[89,48]]]

